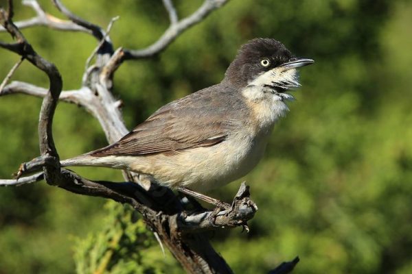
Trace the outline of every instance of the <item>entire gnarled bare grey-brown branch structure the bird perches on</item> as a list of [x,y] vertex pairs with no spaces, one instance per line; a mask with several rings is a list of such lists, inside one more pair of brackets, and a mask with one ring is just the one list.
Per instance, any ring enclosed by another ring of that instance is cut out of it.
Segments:
[[[247,227],[246,222],[253,218],[257,207],[251,201],[249,189],[244,184],[233,199],[232,205],[223,211],[203,209],[185,212],[181,201],[170,189],[155,184],[148,184],[147,189],[145,189],[143,184],[139,185],[139,178],[133,173],[124,173],[126,179],[133,182],[93,182],[72,171],[60,169],[58,152],[52,136],[52,121],[58,99],[77,103],[91,112],[102,125],[108,142],[115,142],[124,136],[128,130],[119,111],[121,103],[115,100],[111,93],[113,73],[116,69],[124,60],[149,58],[161,52],[185,29],[202,21],[205,16],[228,0],[205,0],[201,8],[181,21],[178,20],[172,1],[165,0],[163,4],[168,10],[171,25],[163,36],[146,49],[134,51],[120,48],[114,53],[108,36],[111,24],[109,24],[107,32],[104,32],[101,27],[70,12],[59,0],[53,1],[58,10],[65,14],[73,24],[82,29],[88,29],[89,33],[99,40],[98,51],[93,53],[93,55],[97,55],[97,58],[95,64],[87,68],[85,74],[87,76],[84,77],[83,86],[79,90],[61,92],[62,79],[56,66],[41,58],[12,22],[12,1],[9,0],[8,12],[0,10],[1,24],[12,36],[16,37],[15,43],[0,42],[0,47],[21,55],[38,69],[44,71],[49,77],[50,84],[49,90],[46,90],[23,82],[12,82],[0,92],[0,95],[23,92],[43,97],[38,127],[41,157],[23,164],[19,175],[37,171],[42,167],[44,171],[44,173],[36,173],[16,180],[1,180],[0,185],[37,182],[44,177],[48,184],[54,184],[71,192],[129,203],[141,212],[146,223],[157,233],[165,247],[170,249],[187,272],[231,273],[225,260],[214,251],[207,236],[202,232],[221,227]],[[38,3],[36,1],[32,3],[37,9],[38,16],[45,17],[45,12],[40,9]]]

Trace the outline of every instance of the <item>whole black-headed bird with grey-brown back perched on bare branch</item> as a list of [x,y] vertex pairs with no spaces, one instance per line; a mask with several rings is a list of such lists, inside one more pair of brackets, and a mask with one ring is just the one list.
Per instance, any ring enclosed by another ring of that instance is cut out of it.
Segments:
[[295,58],[281,42],[242,45],[220,84],[163,105],[113,145],[62,166],[106,166],[148,175],[171,188],[207,191],[258,164],[273,125],[288,112],[288,90],[300,86]]

